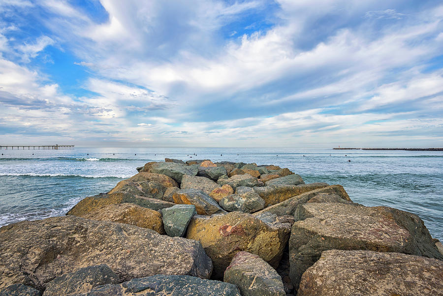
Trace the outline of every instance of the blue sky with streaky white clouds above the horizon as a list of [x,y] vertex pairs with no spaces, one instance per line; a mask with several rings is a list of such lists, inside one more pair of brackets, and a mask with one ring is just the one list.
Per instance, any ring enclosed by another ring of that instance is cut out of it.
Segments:
[[0,0],[0,144],[443,147],[441,0]]

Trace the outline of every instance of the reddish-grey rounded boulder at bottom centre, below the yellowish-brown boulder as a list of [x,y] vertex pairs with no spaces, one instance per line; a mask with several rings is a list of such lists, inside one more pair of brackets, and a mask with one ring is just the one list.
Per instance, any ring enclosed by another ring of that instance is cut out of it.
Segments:
[[223,281],[236,285],[242,296],[286,296],[277,271],[249,252],[238,252],[234,256],[224,271]]

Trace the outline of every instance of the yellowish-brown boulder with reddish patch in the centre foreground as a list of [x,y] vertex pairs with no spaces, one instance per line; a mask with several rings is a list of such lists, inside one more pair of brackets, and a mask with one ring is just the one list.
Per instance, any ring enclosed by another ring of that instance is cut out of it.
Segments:
[[214,263],[213,277],[223,272],[239,251],[260,256],[277,267],[288,240],[290,223],[265,223],[242,212],[212,217],[195,215],[188,226],[187,238],[201,242]]

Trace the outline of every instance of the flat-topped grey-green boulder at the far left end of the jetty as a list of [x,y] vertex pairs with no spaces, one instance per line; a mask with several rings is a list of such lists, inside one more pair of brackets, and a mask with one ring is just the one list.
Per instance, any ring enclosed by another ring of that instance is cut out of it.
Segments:
[[163,174],[171,177],[177,183],[181,183],[183,175],[195,176],[198,171],[198,166],[176,163],[152,162],[145,164],[141,171]]

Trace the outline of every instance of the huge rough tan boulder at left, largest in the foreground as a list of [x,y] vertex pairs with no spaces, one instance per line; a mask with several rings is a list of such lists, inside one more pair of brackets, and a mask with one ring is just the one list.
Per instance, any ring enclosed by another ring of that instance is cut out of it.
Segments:
[[0,288],[46,283],[82,267],[107,263],[122,279],[154,274],[211,276],[201,244],[132,225],[76,216],[23,221],[0,228]]

